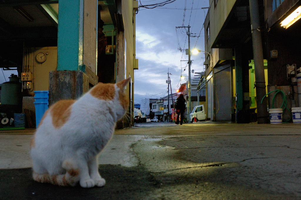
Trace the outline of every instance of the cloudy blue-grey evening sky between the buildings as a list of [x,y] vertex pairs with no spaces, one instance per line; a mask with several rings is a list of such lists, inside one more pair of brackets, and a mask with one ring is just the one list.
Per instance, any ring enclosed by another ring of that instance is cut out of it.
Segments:
[[[142,5],[159,2],[162,0],[141,0]],[[204,0],[176,0],[163,7],[140,8],[136,14],[136,58],[139,59],[139,70],[135,70],[135,103],[140,103],[144,98],[166,96],[168,70],[172,74],[172,92],[179,88],[181,70],[183,72],[187,65],[187,61],[181,60],[188,60],[188,55],[178,49],[188,49],[188,29],[175,27],[191,26],[192,35],[200,36],[190,38],[191,49],[195,46],[196,49],[204,50],[203,23],[208,9],[201,8],[208,6],[209,2]],[[191,70],[204,71],[204,57],[202,52],[193,54]],[[188,65],[183,76],[188,78]],[[181,83],[185,83],[185,80],[181,80]]]

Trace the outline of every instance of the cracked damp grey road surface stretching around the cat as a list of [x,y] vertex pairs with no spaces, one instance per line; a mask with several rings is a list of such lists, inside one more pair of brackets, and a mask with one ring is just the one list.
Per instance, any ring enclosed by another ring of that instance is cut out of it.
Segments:
[[296,124],[141,123],[116,130],[99,157],[107,183],[92,189],[34,182],[24,151],[32,135],[8,134],[0,133],[0,199],[301,199]]

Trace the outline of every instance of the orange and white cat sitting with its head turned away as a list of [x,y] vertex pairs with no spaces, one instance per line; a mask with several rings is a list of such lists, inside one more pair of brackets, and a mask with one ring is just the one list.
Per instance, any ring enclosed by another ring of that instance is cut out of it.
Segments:
[[31,141],[33,179],[60,186],[104,186],[97,157],[126,113],[130,78],[98,83],[77,100],[60,100],[44,114]]

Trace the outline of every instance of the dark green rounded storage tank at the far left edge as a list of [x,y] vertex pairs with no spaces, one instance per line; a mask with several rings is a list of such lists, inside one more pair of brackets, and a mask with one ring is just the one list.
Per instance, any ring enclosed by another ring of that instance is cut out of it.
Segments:
[[11,74],[9,81],[2,83],[1,113],[22,113],[22,83],[18,75]]

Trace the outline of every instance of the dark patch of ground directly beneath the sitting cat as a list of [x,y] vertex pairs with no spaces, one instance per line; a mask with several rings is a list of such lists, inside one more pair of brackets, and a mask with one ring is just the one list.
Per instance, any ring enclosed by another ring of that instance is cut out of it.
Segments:
[[157,188],[157,182],[143,167],[100,165],[106,180],[104,187],[60,187],[38,183],[32,179],[32,169],[1,169],[0,199],[141,199]]

